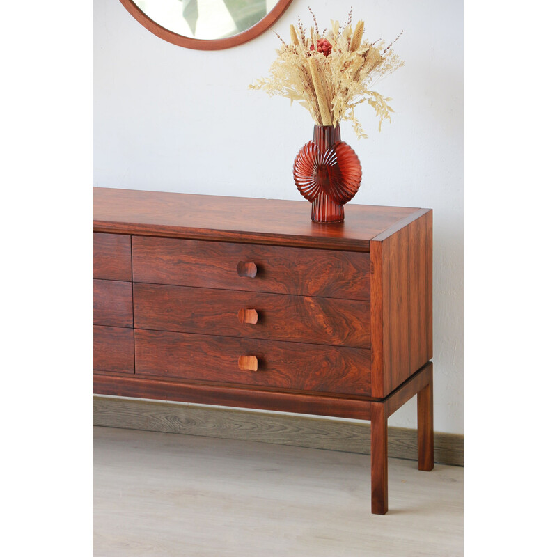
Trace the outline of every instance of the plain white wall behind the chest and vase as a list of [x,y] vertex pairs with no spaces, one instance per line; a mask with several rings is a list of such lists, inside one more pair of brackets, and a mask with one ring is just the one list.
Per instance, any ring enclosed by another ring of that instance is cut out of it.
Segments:
[[[366,22],[366,38],[391,40],[405,67],[379,92],[393,97],[393,121],[377,133],[368,107],[358,113],[368,139],[348,123],[363,182],[354,203],[434,210],[434,427],[463,432],[463,24],[462,0],[319,0],[320,26]],[[288,37],[306,0],[275,24]],[[308,113],[288,100],[249,91],[267,75],[272,31],[233,49],[203,52],[149,33],[116,0],[93,3],[93,185],[300,200],[292,181],[297,150],[313,132]],[[309,212],[308,212],[309,218]],[[389,425],[416,427],[416,400]]]

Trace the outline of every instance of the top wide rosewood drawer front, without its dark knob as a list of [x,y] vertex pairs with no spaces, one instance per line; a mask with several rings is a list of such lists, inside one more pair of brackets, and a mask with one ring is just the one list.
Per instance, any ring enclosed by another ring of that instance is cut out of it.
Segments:
[[132,252],[135,282],[370,299],[368,253],[141,236]]

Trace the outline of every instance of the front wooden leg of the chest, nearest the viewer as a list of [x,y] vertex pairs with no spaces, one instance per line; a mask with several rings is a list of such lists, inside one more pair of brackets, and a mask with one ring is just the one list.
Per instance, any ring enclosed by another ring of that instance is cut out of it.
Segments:
[[371,402],[371,512],[384,515],[388,508],[387,409],[383,402]]

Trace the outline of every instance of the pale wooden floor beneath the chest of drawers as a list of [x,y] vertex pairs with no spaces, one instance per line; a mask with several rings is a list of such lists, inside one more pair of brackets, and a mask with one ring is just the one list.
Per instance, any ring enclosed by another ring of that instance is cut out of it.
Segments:
[[368,455],[93,427],[93,555],[461,556],[462,489],[389,459],[375,516]]

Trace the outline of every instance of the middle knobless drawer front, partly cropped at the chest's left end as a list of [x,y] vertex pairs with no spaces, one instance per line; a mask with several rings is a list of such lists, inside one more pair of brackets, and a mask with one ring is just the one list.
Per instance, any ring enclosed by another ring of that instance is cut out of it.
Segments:
[[93,324],[134,326],[132,283],[93,279]]

